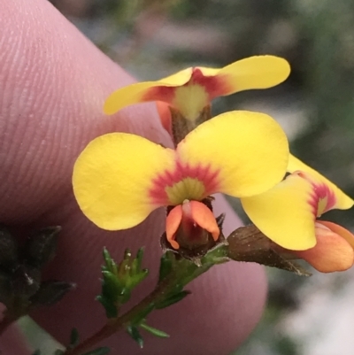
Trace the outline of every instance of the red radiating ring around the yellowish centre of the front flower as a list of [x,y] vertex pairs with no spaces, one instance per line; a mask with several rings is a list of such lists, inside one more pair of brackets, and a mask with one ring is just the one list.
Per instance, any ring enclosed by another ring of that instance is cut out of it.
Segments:
[[[219,171],[212,168],[212,166],[189,166],[188,164],[182,164],[177,161],[176,167],[173,172],[166,170],[164,173],[159,174],[153,182],[153,186],[150,189],[150,197],[152,203],[158,205],[171,205],[167,193],[166,187],[172,187],[174,184],[183,181],[186,178],[196,179],[204,185],[204,195],[200,198],[203,199],[215,192],[218,192],[219,187]],[[181,197],[184,199],[192,199],[189,196]]]

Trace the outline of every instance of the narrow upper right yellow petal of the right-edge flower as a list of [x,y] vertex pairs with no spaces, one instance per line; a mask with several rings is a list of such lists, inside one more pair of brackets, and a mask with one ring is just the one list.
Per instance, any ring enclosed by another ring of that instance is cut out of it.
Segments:
[[312,169],[312,167],[306,166],[300,159],[290,154],[288,171],[289,173],[294,173],[296,172],[296,170],[303,171],[312,175],[315,180],[324,183],[327,188],[333,192],[333,195],[335,197],[335,205],[331,206],[331,208],[347,210],[354,205],[354,200],[349,196],[345,195],[344,192],[337,186],[335,186],[332,181],[329,181],[323,175],[319,174],[319,172]]

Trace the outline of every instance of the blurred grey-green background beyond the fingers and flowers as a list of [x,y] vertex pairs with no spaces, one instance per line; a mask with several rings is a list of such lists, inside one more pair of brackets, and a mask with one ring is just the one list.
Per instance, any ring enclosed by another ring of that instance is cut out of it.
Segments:
[[[158,79],[188,66],[224,66],[257,54],[287,58],[292,66],[287,82],[222,97],[214,102],[213,113],[247,109],[271,114],[289,135],[296,156],[354,196],[353,1],[51,3],[139,80]],[[231,203],[240,212],[237,202]],[[328,212],[326,220],[354,228],[352,215]],[[314,271],[311,278],[267,272],[265,315],[235,354],[353,354],[353,272]]]

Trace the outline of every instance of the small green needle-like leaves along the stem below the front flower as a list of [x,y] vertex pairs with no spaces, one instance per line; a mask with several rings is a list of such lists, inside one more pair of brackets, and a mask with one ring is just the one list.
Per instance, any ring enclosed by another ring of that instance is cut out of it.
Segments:
[[150,327],[146,322],[147,316],[154,310],[174,305],[187,297],[190,292],[184,290],[184,286],[211,266],[225,262],[225,255],[226,251],[219,247],[201,260],[202,266],[197,266],[191,260],[167,251],[160,260],[156,288],[139,305],[120,315],[120,306],[129,300],[132,290],[145,279],[148,271],[142,268],[142,249],[137,252],[136,257],[127,250],[119,264],[104,249],[102,293],[97,299],[104,306],[107,318],[115,319],[112,324],[122,322],[123,328],[142,348],[141,328],[153,336],[168,337],[164,331]]

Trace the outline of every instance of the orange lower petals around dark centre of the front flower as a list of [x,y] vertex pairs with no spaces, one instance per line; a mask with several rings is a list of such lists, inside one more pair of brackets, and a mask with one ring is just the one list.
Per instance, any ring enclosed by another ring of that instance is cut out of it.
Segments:
[[204,231],[212,235],[216,242],[219,238],[218,223],[212,211],[202,202],[186,200],[173,208],[166,218],[166,238],[173,249],[180,249],[179,237],[191,246],[203,243]]

